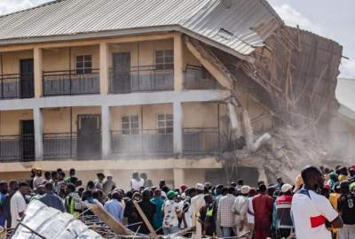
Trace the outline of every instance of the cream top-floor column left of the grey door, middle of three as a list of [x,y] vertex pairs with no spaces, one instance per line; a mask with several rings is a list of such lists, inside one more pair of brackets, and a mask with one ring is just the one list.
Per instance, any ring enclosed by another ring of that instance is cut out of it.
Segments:
[[109,73],[108,73],[108,44],[100,42],[99,44],[99,76],[100,93],[107,95],[109,92]]

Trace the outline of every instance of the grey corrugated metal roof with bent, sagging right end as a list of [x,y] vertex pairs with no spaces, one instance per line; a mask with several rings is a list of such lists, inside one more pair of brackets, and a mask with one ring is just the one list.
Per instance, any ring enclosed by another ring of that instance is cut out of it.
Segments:
[[265,0],[61,0],[0,17],[0,44],[181,30],[248,55],[280,22]]

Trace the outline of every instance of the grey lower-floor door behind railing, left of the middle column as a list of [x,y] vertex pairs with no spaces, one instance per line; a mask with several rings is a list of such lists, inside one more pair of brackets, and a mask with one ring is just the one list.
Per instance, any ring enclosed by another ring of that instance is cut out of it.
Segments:
[[100,115],[78,115],[77,157],[101,157],[101,122]]

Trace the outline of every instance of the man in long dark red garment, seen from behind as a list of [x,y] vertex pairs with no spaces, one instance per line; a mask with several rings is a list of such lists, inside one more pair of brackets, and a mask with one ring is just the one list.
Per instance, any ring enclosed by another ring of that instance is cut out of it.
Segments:
[[271,213],[272,197],[266,194],[266,186],[261,184],[258,194],[253,198],[253,210],[255,217],[255,235],[256,239],[265,239],[271,235]]

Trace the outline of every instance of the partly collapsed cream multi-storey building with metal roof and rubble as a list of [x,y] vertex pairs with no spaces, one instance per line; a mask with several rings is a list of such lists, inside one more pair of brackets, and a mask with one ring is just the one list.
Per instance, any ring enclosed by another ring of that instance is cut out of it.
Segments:
[[4,179],[256,184],[340,160],[342,47],[265,0],[58,0],[1,17],[0,53]]

